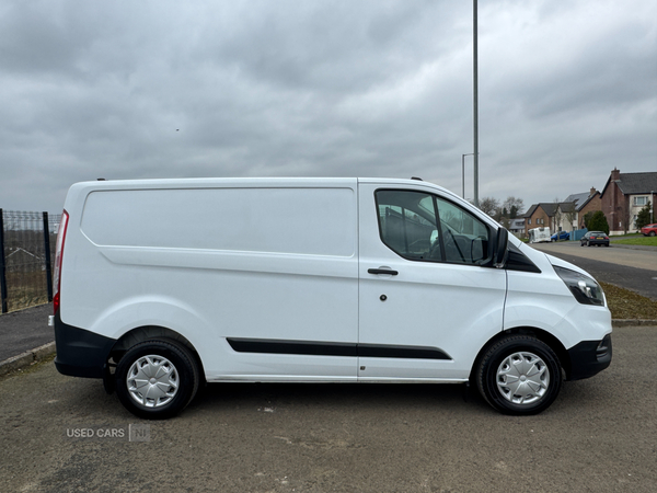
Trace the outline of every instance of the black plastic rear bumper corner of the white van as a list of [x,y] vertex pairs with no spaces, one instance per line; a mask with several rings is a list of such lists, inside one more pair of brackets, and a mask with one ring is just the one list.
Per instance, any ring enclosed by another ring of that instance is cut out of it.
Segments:
[[105,365],[116,340],[68,325],[55,314],[55,366],[61,375],[103,378]]

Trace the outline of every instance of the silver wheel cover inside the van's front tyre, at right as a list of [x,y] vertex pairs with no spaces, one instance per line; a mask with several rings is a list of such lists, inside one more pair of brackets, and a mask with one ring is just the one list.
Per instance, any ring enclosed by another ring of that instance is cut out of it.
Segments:
[[550,370],[543,359],[532,353],[514,353],[497,368],[497,390],[514,404],[532,404],[550,387]]

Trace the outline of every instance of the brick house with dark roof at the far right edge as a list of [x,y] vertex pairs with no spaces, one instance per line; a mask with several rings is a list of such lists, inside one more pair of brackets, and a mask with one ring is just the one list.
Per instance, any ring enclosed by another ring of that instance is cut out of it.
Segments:
[[657,172],[621,173],[613,169],[600,193],[600,209],[610,234],[636,230],[636,216],[648,200],[655,204]]

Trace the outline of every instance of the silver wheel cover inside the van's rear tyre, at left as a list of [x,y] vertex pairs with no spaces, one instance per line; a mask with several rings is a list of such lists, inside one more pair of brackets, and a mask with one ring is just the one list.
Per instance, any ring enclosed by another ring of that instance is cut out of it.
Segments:
[[166,405],[178,391],[180,376],[169,359],[149,354],[130,366],[126,386],[130,397],[143,408]]

